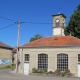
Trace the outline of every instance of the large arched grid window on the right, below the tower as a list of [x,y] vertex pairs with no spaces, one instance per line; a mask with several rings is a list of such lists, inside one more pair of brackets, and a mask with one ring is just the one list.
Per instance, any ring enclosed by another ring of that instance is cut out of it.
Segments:
[[57,69],[65,71],[68,68],[68,55],[58,54],[57,55]]

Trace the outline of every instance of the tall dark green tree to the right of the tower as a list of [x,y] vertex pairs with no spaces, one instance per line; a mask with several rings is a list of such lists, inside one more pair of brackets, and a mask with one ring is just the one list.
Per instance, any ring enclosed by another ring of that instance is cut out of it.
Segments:
[[70,17],[70,21],[67,27],[64,29],[65,35],[72,35],[80,38],[80,4]]

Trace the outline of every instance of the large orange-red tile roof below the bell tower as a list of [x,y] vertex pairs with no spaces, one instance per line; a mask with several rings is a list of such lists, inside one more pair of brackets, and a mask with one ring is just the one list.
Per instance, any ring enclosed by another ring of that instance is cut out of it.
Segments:
[[80,39],[73,36],[53,36],[44,37],[27,44],[22,47],[37,47],[37,46],[75,46],[80,45]]

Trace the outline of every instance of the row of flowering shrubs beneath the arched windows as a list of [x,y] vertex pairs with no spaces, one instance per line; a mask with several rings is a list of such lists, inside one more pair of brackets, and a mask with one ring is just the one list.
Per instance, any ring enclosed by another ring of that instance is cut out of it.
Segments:
[[44,70],[38,70],[36,68],[32,69],[33,73],[40,73],[40,74],[47,74],[47,75],[53,75],[53,76],[67,76],[67,77],[71,77],[73,76],[73,74],[70,72],[69,69],[66,69],[65,71],[61,72],[60,69],[56,69],[54,72],[53,71],[49,71],[47,72],[47,69]]

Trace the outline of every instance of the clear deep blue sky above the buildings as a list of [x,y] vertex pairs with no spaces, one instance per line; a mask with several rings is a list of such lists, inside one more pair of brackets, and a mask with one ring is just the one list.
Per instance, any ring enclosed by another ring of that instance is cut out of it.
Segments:
[[20,25],[20,45],[28,43],[36,34],[52,36],[52,24],[33,23],[52,23],[52,15],[60,11],[68,24],[79,4],[80,0],[0,0],[0,41],[11,47],[17,45],[16,21],[27,22]]

